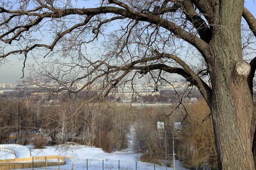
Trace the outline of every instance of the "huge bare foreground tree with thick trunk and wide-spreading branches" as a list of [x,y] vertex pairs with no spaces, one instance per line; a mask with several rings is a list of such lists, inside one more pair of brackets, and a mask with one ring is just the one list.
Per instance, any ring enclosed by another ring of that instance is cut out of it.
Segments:
[[[256,58],[244,61],[241,23],[243,17],[256,36],[256,19],[244,0],[99,0],[95,8],[88,3],[2,0],[2,61],[23,54],[25,67],[27,57],[48,57],[48,65],[38,63],[44,87],[70,94],[98,89],[94,99],[119,83],[134,83],[139,74],[155,88],[169,81],[168,74],[179,74],[209,105],[218,169],[255,169],[256,139],[252,152],[249,132]],[[202,70],[195,68],[198,57],[206,65]]]

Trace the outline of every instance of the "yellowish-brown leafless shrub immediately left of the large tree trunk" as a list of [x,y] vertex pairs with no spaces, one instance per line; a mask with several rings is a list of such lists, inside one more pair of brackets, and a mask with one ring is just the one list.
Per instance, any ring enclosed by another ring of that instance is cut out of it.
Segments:
[[217,165],[212,118],[207,103],[201,100],[187,107],[189,117],[177,134],[177,159],[187,167],[214,169]]

